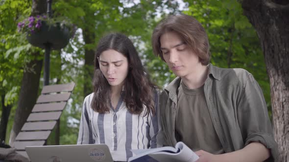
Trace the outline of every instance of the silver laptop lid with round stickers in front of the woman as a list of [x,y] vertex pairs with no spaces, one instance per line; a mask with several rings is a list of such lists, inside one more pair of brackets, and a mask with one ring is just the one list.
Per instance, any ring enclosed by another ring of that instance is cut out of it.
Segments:
[[113,162],[106,144],[26,146],[31,162]]

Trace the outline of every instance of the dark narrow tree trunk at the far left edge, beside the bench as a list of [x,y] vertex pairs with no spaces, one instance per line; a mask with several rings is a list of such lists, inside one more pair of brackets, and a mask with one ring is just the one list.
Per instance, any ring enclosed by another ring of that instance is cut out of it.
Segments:
[[1,114],[1,121],[0,121],[0,142],[6,139],[6,130],[7,130],[7,123],[8,118],[11,111],[11,105],[4,105],[5,102],[5,95],[1,95],[1,104],[2,104],[2,114]]

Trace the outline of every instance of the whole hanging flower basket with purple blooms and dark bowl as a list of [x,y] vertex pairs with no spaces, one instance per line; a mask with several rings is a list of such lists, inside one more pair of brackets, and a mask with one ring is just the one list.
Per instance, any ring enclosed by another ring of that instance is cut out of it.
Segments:
[[49,43],[51,49],[64,48],[73,35],[73,27],[65,21],[49,21],[45,16],[29,17],[18,23],[19,31],[27,33],[27,41],[37,47],[45,48]]

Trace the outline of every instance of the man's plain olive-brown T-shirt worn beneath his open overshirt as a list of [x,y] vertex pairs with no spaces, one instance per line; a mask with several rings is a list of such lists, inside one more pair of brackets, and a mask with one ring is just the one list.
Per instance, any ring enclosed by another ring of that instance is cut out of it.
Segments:
[[183,81],[177,92],[175,138],[193,151],[224,153],[205,99],[204,86],[189,89]]

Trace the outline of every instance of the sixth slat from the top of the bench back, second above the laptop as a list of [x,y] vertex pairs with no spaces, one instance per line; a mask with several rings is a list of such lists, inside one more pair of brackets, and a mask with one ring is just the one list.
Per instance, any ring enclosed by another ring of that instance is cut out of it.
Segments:
[[20,132],[16,141],[47,140],[51,131]]

